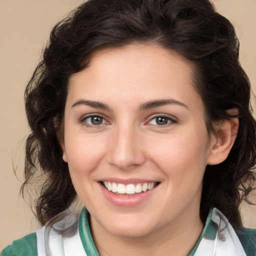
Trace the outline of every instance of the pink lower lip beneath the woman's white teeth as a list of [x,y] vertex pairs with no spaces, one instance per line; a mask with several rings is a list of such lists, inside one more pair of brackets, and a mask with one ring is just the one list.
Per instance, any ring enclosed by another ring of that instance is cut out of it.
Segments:
[[115,193],[107,190],[100,182],[99,182],[99,186],[101,188],[102,193],[104,194],[104,196],[106,197],[106,199],[109,202],[111,202],[117,206],[130,207],[130,206],[138,205],[138,204],[142,203],[143,201],[145,201],[148,197],[150,197],[152,195],[152,193],[159,186],[159,184],[156,185],[155,187],[153,187],[152,189],[146,190],[145,192],[141,192],[141,193],[138,193],[135,195],[115,194]]

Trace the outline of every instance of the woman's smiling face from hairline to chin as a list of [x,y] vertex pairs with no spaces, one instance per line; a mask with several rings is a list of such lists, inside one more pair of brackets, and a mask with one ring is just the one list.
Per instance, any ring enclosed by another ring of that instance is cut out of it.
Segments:
[[177,54],[96,52],[69,80],[61,146],[92,229],[138,237],[199,219],[211,141],[192,65]]

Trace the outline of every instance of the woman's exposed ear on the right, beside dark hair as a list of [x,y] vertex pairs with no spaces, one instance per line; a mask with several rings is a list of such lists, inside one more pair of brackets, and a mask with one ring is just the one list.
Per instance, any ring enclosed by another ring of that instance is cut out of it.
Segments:
[[[238,109],[231,108],[226,112],[237,116]],[[215,133],[211,138],[207,164],[218,164],[226,159],[235,141],[238,126],[238,117],[222,119],[214,124]]]

